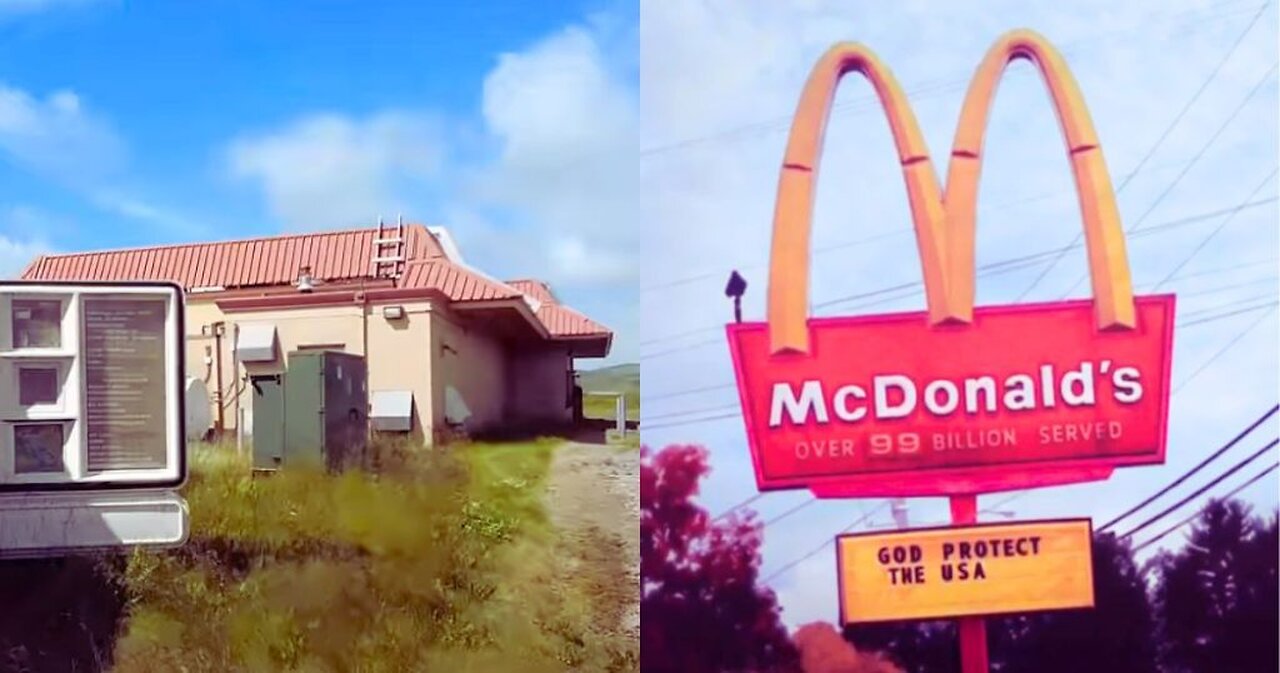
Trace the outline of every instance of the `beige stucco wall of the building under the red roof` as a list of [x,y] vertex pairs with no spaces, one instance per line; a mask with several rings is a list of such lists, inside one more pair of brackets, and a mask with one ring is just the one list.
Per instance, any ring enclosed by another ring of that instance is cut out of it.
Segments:
[[[252,406],[252,393],[244,383],[246,370],[237,366],[234,358],[236,325],[271,322],[280,340],[282,357],[306,345],[338,344],[348,353],[366,354],[370,392],[411,390],[413,435],[428,441],[447,435],[445,386],[457,389],[466,402],[472,415],[468,431],[492,430],[502,424],[572,418],[572,411],[566,407],[571,361],[562,347],[508,349],[480,324],[463,320],[439,305],[404,302],[397,306],[403,306],[406,316],[393,321],[383,317],[381,306],[369,307],[366,353],[358,305],[223,313],[212,299],[192,296],[187,299],[186,319],[187,375],[205,381],[212,407],[210,417],[216,424],[215,390],[218,363],[221,362],[224,429],[233,431],[241,408],[248,416]],[[202,330],[218,321],[225,322],[221,357],[218,357],[211,329],[209,335]]]

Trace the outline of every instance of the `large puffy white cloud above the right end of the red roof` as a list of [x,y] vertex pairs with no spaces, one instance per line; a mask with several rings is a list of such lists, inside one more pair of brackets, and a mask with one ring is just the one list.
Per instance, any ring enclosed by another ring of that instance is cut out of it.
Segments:
[[483,114],[500,145],[476,193],[543,234],[545,274],[566,284],[634,281],[637,100],[602,40],[566,28],[504,54],[485,78]]

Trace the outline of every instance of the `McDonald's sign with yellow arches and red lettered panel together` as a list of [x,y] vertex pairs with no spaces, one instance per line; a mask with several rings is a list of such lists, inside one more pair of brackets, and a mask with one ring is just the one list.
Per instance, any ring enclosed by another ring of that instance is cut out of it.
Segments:
[[[974,308],[974,220],[996,86],[1016,59],[1048,87],[1075,178],[1092,299]],[[810,319],[809,232],[836,86],[865,75],[906,182],[928,310]],[[955,495],[1101,480],[1165,459],[1174,296],[1134,297],[1093,123],[1062,56],[1015,31],[987,52],[940,187],[906,95],[838,44],[796,110],[773,218],[768,319],[727,328],[762,490]]]

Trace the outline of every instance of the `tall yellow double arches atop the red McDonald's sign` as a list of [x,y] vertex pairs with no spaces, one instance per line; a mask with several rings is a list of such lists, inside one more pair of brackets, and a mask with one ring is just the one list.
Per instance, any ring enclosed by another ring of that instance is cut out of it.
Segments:
[[890,120],[915,225],[929,321],[972,320],[982,142],[996,86],[1005,68],[1020,58],[1039,69],[1062,127],[1084,219],[1097,325],[1133,328],[1133,287],[1124,230],[1084,99],[1057,50],[1034,32],[1014,31],[987,51],[970,83],[956,127],[945,197],[906,96],[879,59],[861,45],[838,44],[814,65],[791,125],[773,216],[768,298],[773,353],[809,349],[813,188],[831,101],[841,77],[851,70],[872,82]]

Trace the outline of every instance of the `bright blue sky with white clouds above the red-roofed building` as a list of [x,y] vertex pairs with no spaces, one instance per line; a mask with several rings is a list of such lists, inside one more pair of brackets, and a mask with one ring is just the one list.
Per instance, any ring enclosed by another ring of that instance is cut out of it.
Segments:
[[605,1],[0,0],[0,273],[403,212],[494,275],[548,278],[634,360],[637,22]]

